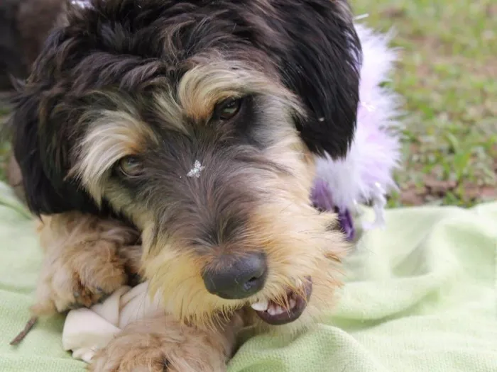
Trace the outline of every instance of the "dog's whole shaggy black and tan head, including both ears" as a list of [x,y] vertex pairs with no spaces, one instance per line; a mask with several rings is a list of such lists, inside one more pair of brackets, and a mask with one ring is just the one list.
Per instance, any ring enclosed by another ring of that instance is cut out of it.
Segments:
[[359,63],[342,0],[71,9],[13,117],[28,203],[131,220],[182,320],[246,307],[302,325],[337,286],[344,243],[310,203],[312,159],[348,150]]

